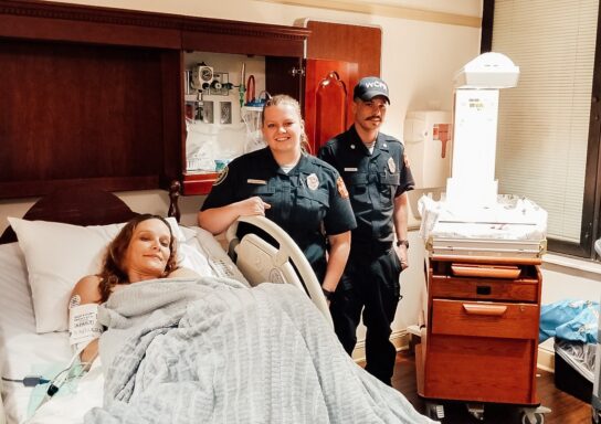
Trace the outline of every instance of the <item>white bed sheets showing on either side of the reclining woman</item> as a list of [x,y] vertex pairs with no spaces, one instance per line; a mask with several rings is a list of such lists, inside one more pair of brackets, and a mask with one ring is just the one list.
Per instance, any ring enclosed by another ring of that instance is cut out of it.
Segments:
[[[186,236],[186,243],[180,244],[180,251],[186,253],[181,266],[191,267],[201,275],[234,278],[250,287],[210,233],[198,227],[181,229]],[[36,369],[66,364],[72,354],[67,332],[35,332],[27,265],[18,243],[0,245],[0,293],[1,375],[22,379]],[[28,424],[81,423],[87,410],[102,404],[104,378],[97,362],[80,381],[76,391],[54,396],[40,407]],[[25,421],[31,393],[32,389],[21,383],[2,382],[7,424]]]

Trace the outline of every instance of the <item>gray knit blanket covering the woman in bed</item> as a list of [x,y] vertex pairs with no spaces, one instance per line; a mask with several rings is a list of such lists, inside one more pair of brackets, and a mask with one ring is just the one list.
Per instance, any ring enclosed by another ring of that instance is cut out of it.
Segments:
[[99,317],[104,406],[85,423],[433,423],[358,367],[293,286],[136,283]]

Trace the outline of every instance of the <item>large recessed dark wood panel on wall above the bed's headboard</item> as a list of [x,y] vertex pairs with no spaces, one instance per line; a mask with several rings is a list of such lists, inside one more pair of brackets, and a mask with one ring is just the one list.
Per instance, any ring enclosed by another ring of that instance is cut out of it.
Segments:
[[160,51],[4,40],[0,63],[0,182],[157,174]]

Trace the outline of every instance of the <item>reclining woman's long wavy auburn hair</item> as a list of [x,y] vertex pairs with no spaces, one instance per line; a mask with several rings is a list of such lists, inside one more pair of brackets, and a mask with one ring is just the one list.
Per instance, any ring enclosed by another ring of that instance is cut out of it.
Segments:
[[127,276],[127,268],[125,264],[125,257],[131,237],[134,236],[134,231],[136,227],[144,221],[148,220],[159,220],[169,229],[169,258],[167,259],[167,265],[165,266],[164,276],[169,275],[172,271],[177,268],[177,243],[171,232],[171,225],[159,215],[152,215],[150,213],[143,213],[129,220],[127,224],[119,231],[119,234],[108,244],[106,248],[106,254],[104,256],[103,267],[98,277],[101,277],[101,284],[98,289],[101,292],[101,303],[106,301],[113,287],[117,284],[127,284],[129,283]]

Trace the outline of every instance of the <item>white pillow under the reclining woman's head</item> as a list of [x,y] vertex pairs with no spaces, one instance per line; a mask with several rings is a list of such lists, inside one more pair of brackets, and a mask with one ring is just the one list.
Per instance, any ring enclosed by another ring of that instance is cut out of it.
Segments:
[[[68,296],[85,275],[101,271],[106,245],[125,225],[78,226],[8,218],[25,256],[38,332],[67,329]],[[167,219],[176,239],[183,234]]]

